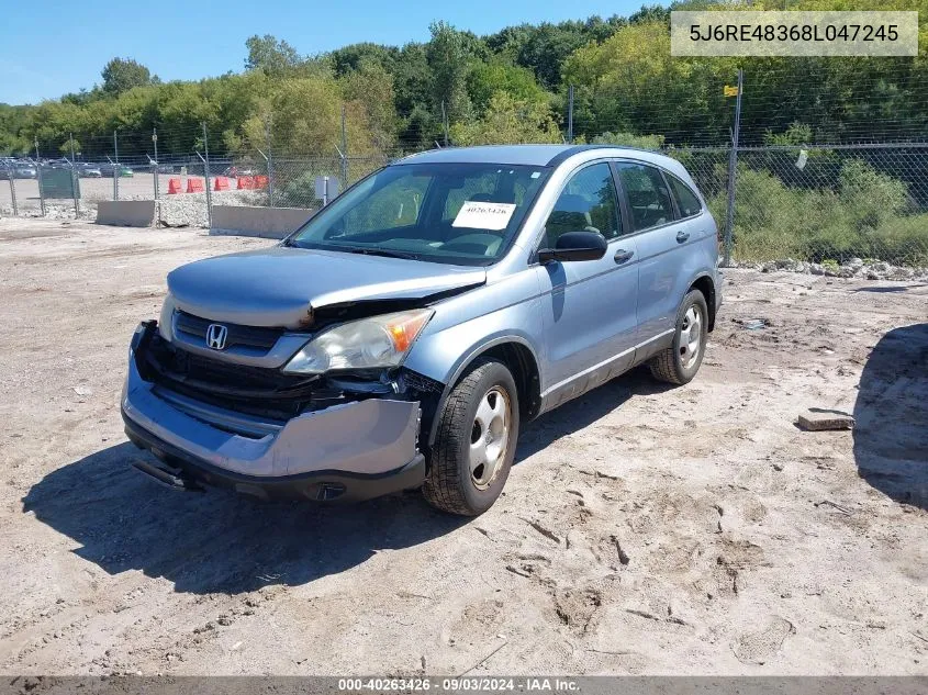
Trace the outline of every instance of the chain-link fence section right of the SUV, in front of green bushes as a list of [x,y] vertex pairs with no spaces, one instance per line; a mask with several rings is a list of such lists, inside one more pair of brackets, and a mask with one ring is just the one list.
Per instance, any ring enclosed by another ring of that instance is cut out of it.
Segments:
[[[928,267],[928,144],[668,150],[730,238],[731,260]],[[730,236],[729,236],[730,234]]]

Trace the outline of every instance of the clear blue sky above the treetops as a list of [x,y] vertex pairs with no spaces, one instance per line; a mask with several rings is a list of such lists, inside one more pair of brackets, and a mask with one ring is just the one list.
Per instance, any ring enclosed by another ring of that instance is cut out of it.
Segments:
[[[245,40],[272,34],[301,54],[369,41],[426,41],[428,24],[490,34],[523,22],[628,15],[644,0],[32,0],[3,11],[0,102],[54,99],[101,81],[115,56],[164,81],[238,72]],[[653,3],[653,0],[650,0]],[[54,30],[52,29],[54,27]]]

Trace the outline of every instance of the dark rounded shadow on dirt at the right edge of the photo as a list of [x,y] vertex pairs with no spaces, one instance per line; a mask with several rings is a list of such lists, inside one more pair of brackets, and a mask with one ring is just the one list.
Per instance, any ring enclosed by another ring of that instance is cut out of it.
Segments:
[[928,324],[884,335],[854,404],[858,473],[896,502],[928,509]]

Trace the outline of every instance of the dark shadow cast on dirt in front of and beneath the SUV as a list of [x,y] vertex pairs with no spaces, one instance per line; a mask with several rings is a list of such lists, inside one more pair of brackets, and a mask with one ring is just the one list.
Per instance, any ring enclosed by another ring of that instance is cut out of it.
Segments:
[[[516,461],[635,394],[664,389],[641,370],[608,382],[526,425]],[[109,574],[139,570],[194,594],[305,584],[469,522],[433,509],[418,493],[324,506],[261,503],[221,490],[177,492],[133,470],[135,459],[154,462],[123,442],[64,466],[30,490],[23,511],[74,539],[80,546],[74,552]]]

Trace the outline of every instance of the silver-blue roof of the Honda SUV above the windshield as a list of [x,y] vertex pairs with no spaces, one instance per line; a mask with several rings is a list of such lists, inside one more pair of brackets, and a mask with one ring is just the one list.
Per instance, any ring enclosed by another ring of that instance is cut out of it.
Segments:
[[580,153],[590,156],[630,157],[668,166],[670,157],[650,149],[616,145],[480,145],[477,147],[441,147],[410,155],[395,164],[503,164],[532,167],[555,167]]

